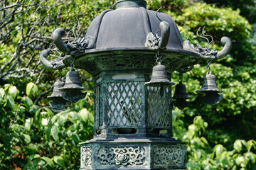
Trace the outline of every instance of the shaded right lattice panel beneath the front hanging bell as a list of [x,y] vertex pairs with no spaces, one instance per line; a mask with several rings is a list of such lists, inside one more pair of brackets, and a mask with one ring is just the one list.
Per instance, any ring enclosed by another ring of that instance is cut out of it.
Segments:
[[171,126],[171,87],[147,86],[147,125]]

